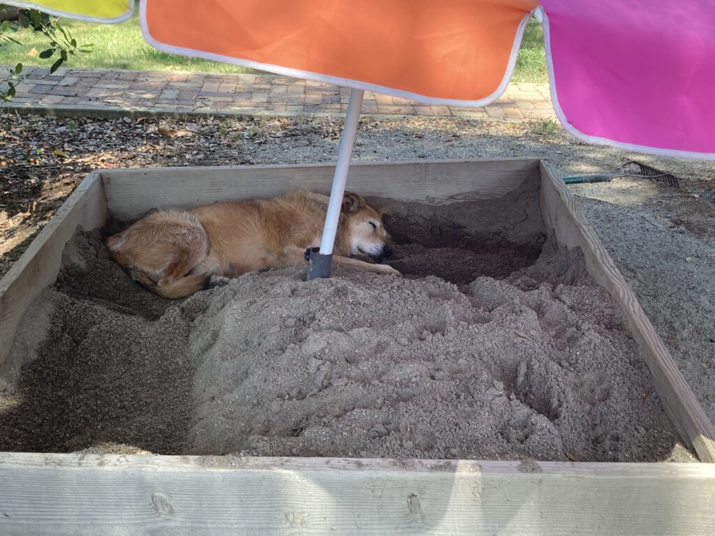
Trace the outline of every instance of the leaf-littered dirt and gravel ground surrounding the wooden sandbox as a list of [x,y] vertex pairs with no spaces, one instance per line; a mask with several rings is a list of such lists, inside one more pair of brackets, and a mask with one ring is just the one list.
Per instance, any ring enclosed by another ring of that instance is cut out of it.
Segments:
[[[0,124],[0,274],[11,267],[89,169],[330,162],[337,154],[342,126],[340,121],[305,118],[207,118],[184,123],[10,115],[0,116]],[[59,152],[53,154],[56,149]],[[638,295],[696,396],[715,417],[713,164],[589,146],[576,142],[558,126],[536,121],[363,119],[355,147],[356,159],[369,160],[488,157],[545,157],[564,174],[612,171],[629,159],[638,159],[681,178],[679,190],[646,179],[616,179],[600,185],[573,186],[571,190],[581,198],[586,217]],[[486,260],[484,267],[498,267],[504,259],[516,259],[513,253],[503,252],[499,257],[499,252],[493,252],[493,259]],[[403,262],[413,262],[415,275],[422,274],[420,262],[425,264],[431,257],[424,254],[420,244],[405,247],[402,255]],[[528,252],[523,255],[524,259],[531,258]],[[463,289],[472,275],[453,274],[453,282]],[[415,281],[407,278],[406,284]],[[232,292],[233,288],[220,290]],[[172,344],[179,344],[169,339],[167,332],[167,354],[173,351]],[[523,377],[530,377],[528,364],[521,370]],[[171,406],[171,399],[167,395],[164,401]],[[646,396],[649,399],[651,394]],[[384,423],[383,427],[389,428]],[[305,435],[305,427],[303,430],[301,435]],[[383,428],[376,430],[371,433],[383,434]],[[252,444],[247,448],[250,452]],[[563,452],[578,456],[566,447]]]

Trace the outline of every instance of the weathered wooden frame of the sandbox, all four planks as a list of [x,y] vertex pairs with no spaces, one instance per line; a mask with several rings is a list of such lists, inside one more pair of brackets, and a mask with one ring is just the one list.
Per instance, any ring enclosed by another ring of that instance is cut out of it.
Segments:
[[[77,227],[111,212],[330,189],[330,164],[92,172],[0,280],[0,364]],[[715,532],[715,427],[555,169],[538,159],[360,163],[348,184],[405,201],[493,199],[539,177],[544,224],[616,299],[700,464],[0,453],[0,535]]]

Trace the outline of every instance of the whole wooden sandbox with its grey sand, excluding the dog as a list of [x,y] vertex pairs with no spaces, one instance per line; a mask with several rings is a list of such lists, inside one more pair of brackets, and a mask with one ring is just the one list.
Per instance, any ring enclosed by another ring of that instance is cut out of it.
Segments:
[[547,162],[355,164],[403,278],[291,267],[166,302],[92,231],[330,177],[85,179],[0,283],[0,527],[706,532],[711,465],[624,462],[712,462],[713,426]]

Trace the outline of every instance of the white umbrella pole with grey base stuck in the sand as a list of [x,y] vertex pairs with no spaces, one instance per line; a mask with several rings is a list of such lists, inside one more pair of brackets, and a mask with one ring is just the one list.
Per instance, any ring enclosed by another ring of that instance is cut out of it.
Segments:
[[325,227],[322,231],[320,252],[310,252],[308,279],[330,277],[332,246],[335,244],[337,222],[340,219],[342,196],[345,194],[345,182],[347,182],[347,169],[350,168],[352,146],[355,143],[355,134],[358,132],[363,93],[362,89],[350,89],[350,101],[347,104],[347,116],[345,116],[345,129],[343,129],[342,137],[340,138],[340,149],[337,153],[335,175],[332,178],[332,190],[330,191],[330,202],[327,204],[327,215],[325,217]]

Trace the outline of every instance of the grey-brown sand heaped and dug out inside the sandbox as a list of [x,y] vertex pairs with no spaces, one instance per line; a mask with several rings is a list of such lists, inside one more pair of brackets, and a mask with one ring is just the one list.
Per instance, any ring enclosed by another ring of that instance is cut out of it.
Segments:
[[80,232],[0,370],[0,450],[692,460],[535,189],[373,199],[405,277],[289,267],[180,301]]

